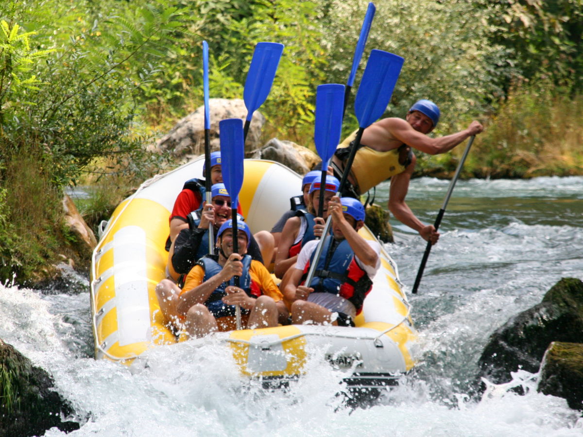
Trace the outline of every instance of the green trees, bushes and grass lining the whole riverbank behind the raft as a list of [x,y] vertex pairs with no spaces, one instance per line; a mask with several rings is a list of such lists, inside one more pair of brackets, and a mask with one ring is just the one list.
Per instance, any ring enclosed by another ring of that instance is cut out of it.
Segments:
[[[355,85],[372,48],[405,58],[385,116],[402,116],[418,98],[431,98],[443,114],[436,135],[480,119],[487,130],[470,154],[468,177],[583,173],[580,1],[375,5]],[[363,0],[2,2],[0,280],[16,274],[25,283],[49,274],[41,269],[59,254],[72,256],[75,241],[61,223],[64,188],[88,181],[102,187],[101,206],[86,206],[97,224],[127,189],[171,165],[146,145],[202,104],[202,40],[210,47],[210,94],[226,98],[243,95],[255,43],[285,44],[261,108],[265,139],[312,147],[315,88],[346,82],[366,6]],[[345,132],[357,126],[351,108]],[[420,157],[419,174],[451,173],[461,152]]]

